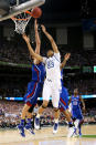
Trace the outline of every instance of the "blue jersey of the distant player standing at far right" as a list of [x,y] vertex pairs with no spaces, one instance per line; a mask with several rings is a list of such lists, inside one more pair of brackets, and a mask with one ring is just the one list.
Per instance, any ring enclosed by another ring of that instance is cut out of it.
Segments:
[[77,96],[72,96],[72,108],[73,110],[79,110],[81,108],[81,101],[79,101],[79,96],[77,95]]

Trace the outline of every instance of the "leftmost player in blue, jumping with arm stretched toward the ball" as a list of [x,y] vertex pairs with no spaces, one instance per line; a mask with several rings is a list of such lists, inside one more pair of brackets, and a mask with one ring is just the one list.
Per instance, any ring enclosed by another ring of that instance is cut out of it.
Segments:
[[[35,53],[40,54],[41,41],[40,41],[39,32],[38,32],[36,20],[35,20],[34,25],[35,25],[35,42],[36,42]],[[29,49],[29,46],[28,46],[28,49]],[[29,49],[29,51],[30,51],[30,49]],[[30,51],[30,54],[31,54],[31,51]],[[24,95],[25,105],[22,110],[21,123],[18,126],[20,134],[23,137],[25,137],[24,128],[30,131],[32,134],[34,134],[33,128],[32,128],[32,124],[31,124],[32,110],[33,110],[34,105],[36,104],[39,94],[42,91],[44,77],[45,77],[44,64],[41,61],[33,59],[32,80],[28,84],[26,94]],[[31,112],[30,112],[30,110],[31,110]],[[26,125],[24,125],[25,121],[26,121]]]

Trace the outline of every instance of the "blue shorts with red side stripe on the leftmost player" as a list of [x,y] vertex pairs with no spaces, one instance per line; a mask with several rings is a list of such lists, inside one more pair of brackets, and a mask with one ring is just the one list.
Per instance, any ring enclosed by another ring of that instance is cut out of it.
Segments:
[[28,84],[26,94],[24,95],[24,102],[29,105],[35,105],[40,93],[42,92],[43,83],[32,81]]

